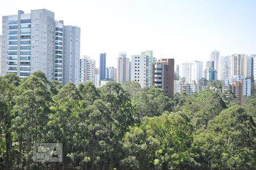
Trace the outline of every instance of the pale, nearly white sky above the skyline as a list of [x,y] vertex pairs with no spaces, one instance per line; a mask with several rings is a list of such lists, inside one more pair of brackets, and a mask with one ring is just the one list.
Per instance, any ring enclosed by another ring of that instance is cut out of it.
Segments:
[[[81,55],[106,66],[152,50],[175,64],[220,56],[256,54],[256,1],[237,0],[1,0],[0,16],[46,8],[56,20],[81,28]],[[2,18],[0,18],[2,23]],[[2,32],[2,27],[0,27]]]

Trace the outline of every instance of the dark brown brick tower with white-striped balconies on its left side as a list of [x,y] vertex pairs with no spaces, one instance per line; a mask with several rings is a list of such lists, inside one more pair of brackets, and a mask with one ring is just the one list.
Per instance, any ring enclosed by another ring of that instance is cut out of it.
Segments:
[[152,69],[152,84],[163,88],[164,95],[174,98],[174,59],[160,59]]

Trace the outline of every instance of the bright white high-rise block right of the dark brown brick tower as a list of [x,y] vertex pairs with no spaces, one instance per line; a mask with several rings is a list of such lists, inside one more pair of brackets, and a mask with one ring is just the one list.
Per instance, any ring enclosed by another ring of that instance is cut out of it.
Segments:
[[192,61],[180,65],[180,78],[185,78],[185,82],[200,80],[203,77],[203,62]]

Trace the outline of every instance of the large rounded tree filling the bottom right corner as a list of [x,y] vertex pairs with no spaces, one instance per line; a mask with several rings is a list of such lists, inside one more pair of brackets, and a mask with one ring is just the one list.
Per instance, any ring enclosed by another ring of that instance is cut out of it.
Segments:
[[192,148],[200,168],[255,168],[256,125],[245,109],[235,105],[210,120],[195,135]]

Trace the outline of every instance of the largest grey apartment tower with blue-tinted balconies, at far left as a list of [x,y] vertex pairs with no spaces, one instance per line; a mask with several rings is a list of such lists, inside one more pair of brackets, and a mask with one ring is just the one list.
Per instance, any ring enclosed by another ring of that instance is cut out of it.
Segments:
[[43,71],[53,80],[55,56],[54,13],[32,10],[18,11],[2,17],[2,73],[16,73],[20,77]]

